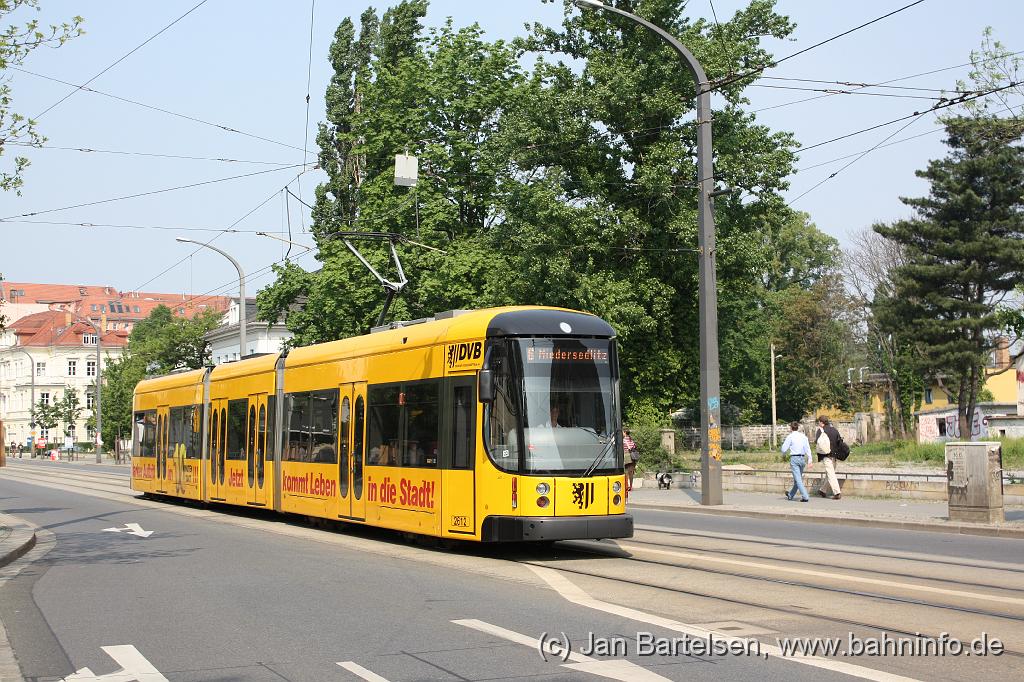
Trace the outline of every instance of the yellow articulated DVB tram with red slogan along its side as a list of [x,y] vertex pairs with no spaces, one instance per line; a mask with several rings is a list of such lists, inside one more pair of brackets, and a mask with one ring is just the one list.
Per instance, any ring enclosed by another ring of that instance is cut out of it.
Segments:
[[614,332],[450,311],[147,379],[132,488],[439,538],[628,538]]

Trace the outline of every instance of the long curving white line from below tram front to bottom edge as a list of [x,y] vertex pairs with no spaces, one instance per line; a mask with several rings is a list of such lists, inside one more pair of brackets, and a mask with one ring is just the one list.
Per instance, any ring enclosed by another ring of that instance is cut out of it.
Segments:
[[[716,632],[714,630],[708,630],[707,628],[701,628],[699,626],[689,625],[686,623],[680,623],[679,621],[673,621],[672,619],[662,617],[660,615],[654,615],[652,613],[645,613],[644,611],[637,610],[635,608],[630,608],[629,606],[620,606],[618,604],[611,604],[606,601],[601,601],[595,599],[587,594],[583,589],[578,587],[574,583],[569,581],[567,578],[559,573],[552,568],[545,568],[542,566],[535,566],[531,564],[526,564],[526,566],[537,573],[541,580],[547,583],[555,592],[561,595],[566,601],[580,606],[585,606],[587,608],[593,608],[598,611],[603,611],[605,613],[611,613],[613,615],[618,615],[631,621],[637,621],[638,623],[646,623],[648,625],[657,626],[659,628],[665,628],[666,630],[672,630],[674,632],[681,632],[690,637],[697,637],[700,639],[709,639],[714,637],[716,640],[723,640],[726,642],[746,642],[745,638],[735,637],[729,635],[728,633]],[[808,655],[782,655],[782,650],[778,646],[773,644],[759,644],[762,655],[772,656],[779,658],[780,660],[791,660],[793,663],[802,664],[804,666],[811,666],[813,668],[820,668],[822,670],[828,670],[836,673],[842,673],[844,675],[849,675],[851,677],[860,678],[862,680],[874,680],[874,682],[916,682],[913,678],[901,677],[899,675],[893,675],[891,673],[886,673],[883,671],[872,670],[870,668],[863,668],[861,666],[854,666],[852,664],[843,663],[841,660],[833,660],[830,658],[821,658],[818,656],[808,656]]]

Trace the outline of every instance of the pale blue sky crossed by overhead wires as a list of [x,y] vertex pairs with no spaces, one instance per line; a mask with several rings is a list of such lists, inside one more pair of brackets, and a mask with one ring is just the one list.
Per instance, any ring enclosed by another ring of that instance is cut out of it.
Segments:
[[[86,34],[59,49],[36,50],[25,69],[84,83],[200,1],[42,0],[41,23],[81,14]],[[768,39],[765,44],[781,57],[909,1],[778,0],[777,10],[790,16],[797,29],[788,40]],[[688,11],[710,17],[712,3],[720,20],[746,4],[691,0]],[[327,51],[334,31],[345,16],[357,18],[367,5],[367,0],[207,0],[89,84],[117,97],[241,132],[88,91],[78,91],[39,118],[48,147],[104,152],[17,150],[32,166],[20,197],[0,193],[0,218],[4,219],[0,221],[0,273],[14,282],[105,285],[122,291],[237,293],[237,275],[222,256],[203,249],[189,257],[197,247],[175,241],[207,241],[216,230],[231,226],[243,231],[221,233],[213,245],[242,263],[247,294],[255,295],[271,282],[269,265],[284,256],[285,249],[282,243],[255,232],[286,229],[282,189],[287,183],[292,182],[291,189],[311,203],[313,188],[325,177],[309,171],[296,179],[302,164],[315,161],[315,130],[325,118],[324,91],[331,77]],[[381,9],[386,4],[375,6]],[[488,39],[509,39],[521,35],[526,22],[557,25],[562,11],[560,2],[541,0],[433,0],[427,26],[440,25],[451,16],[457,27],[478,23]],[[16,20],[17,16],[8,18]],[[969,60],[988,26],[1008,48],[1024,50],[1024,2],[925,0],[790,59],[765,76],[881,83],[945,70]],[[751,87],[749,109],[757,112],[760,123],[792,131],[810,146],[927,109],[933,99],[911,97],[936,97],[939,93],[932,89],[950,90],[967,72],[957,68],[897,83],[921,90],[874,90],[899,97],[835,95],[785,106],[776,105],[821,93]],[[13,88],[13,109],[29,116],[72,90],[23,73],[8,72],[5,77]],[[829,87],[767,79],[758,85]],[[786,194],[794,208],[809,213],[818,227],[844,246],[851,235],[873,222],[909,215],[899,197],[926,194],[927,184],[914,171],[945,154],[932,114],[889,141],[928,134],[880,147],[804,195],[851,160],[836,159],[874,146],[901,125],[801,153],[797,167],[805,170],[793,176]],[[14,153],[8,145],[0,158],[5,168]],[[817,166],[823,162],[831,163]],[[229,177],[234,179],[210,182]],[[196,186],[104,201],[189,184]],[[290,205],[295,241],[311,244],[302,233],[308,228],[308,211],[300,212],[294,200]],[[18,217],[26,213],[37,215]],[[293,259],[300,252],[294,249]],[[308,253],[297,262],[307,268],[316,266]]]

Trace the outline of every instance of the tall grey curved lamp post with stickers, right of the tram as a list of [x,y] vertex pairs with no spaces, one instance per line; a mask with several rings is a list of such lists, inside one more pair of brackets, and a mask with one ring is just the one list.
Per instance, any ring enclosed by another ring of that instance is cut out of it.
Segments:
[[697,92],[697,299],[700,319],[700,504],[722,504],[722,399],[719,394],[718,291],[715,282],[715,196],[711,85],[700,62],[672,34],[630,12],[598,0],[572,0],[581,8],[601,9],[639,24],[669,43],[696,82]]

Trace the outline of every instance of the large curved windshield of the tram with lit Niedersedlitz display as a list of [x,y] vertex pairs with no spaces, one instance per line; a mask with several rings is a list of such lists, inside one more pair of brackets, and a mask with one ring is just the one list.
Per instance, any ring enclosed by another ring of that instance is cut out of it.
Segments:
[[[622,471],[617,376],[608,339],[509,339],[488,353],[485,438],[506,471]],[[520,447],[519,443],[525,443]]]

